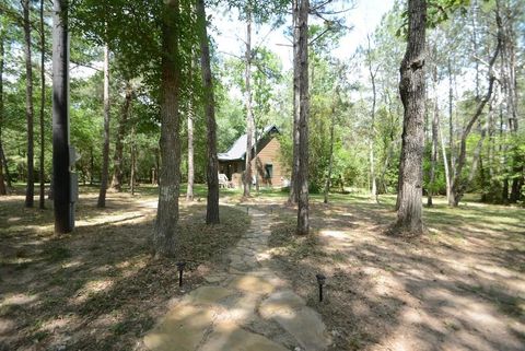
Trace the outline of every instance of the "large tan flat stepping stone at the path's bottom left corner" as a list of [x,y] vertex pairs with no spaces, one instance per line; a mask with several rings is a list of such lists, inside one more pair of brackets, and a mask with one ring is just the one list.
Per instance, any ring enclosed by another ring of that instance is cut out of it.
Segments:
[[190,305],[177,305],[144,337],[151,351],[194,351],[212,325],[214,313]]

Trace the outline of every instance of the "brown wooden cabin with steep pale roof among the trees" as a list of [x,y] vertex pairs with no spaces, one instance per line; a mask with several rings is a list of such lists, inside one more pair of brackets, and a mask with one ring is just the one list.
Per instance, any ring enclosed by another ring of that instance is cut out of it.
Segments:
[[[259,185],[269,187],[288,186],[288,174],[281,161],[280,133],[276,126],[268,126],[257,133],[257,143],[252,149],[252,174]],[[241,136],[228,152],[219,153],[219,172],[225,174],[235,187],[242,187],[246,162],[247,134]],[[255,138],[253,139],[255,143]]]

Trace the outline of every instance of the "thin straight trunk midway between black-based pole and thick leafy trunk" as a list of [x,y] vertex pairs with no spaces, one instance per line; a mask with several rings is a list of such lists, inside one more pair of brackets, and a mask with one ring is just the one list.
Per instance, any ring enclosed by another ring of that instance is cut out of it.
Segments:
[[109,176],[109,47],[104,47],[104,144],[102,148],[101,191],[97,207],[106,207],[107,178]]

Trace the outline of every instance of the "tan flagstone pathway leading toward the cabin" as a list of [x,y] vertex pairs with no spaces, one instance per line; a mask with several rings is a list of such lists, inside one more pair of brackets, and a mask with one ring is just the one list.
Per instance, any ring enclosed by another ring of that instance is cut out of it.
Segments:
[[152,351],[323,351],[329,335],[318,313],[270,268],[271,218],[252,225],[229,253],[226,271],[187,294],[144,337]]

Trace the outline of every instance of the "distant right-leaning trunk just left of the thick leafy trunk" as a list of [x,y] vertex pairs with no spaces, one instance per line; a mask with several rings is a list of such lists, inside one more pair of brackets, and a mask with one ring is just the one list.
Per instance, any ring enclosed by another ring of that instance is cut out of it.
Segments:
[[133,100],[135,92],[133,86],[129,81],[126,82],[126,96],[120,114],[120,120],[118,121],[117,137],[115,138],[115,154],[113,156],[113,178],[112,188],[120,191],[124,183],[124,138],[126,137],[126,125],[129,119],[129,112],[131,109],[131,102]]

